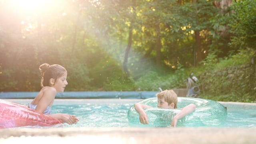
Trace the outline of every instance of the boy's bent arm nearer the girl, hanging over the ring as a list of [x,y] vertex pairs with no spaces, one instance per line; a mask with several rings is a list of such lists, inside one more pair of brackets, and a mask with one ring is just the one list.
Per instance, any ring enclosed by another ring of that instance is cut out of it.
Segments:
[[135,110],[140,114],[140,123],[148,124],[148,116],[143,108],[151,108],[151,106],[147,106],[145,104],[136,103],[134,104]]

